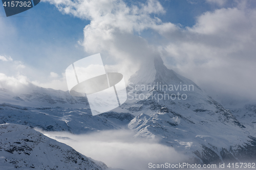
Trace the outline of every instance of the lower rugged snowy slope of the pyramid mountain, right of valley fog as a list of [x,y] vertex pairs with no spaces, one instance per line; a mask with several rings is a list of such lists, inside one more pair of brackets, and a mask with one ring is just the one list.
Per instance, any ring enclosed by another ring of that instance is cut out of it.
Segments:
[[[256,138],[246,128],[219,122],[217,116],[198,113],[188,119],[179,112],[161,108],[152,116],[136,116],[129,128],[137,132],[136,137],[157,138],[201,163],[256,159]],[[252,147],[246,149],[247,144]],[[241,154],[244,150],[252,153]]]

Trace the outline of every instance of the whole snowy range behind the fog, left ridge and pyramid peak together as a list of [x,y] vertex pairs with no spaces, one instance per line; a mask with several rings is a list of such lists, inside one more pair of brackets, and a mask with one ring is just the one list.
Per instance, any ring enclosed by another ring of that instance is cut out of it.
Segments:
[[[256,159],[255,105],[228,110],[193,81],[148,59],[130,78],[120,107],[92,116],[87,98],[40,87],[0,90],[0,123],[89,133],[129,128],[157,138],[198,163]],[[2,101],[2,104],[1,104]]]

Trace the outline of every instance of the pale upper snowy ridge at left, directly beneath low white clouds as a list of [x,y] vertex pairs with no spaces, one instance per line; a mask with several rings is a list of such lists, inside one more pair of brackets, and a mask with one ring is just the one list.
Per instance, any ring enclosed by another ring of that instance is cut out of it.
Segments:
[[74,97],[68,91],[42,88],[33,84],[18,92],[0,88],[0,103],[26,107],[89,108],[88,100],[85,97]]

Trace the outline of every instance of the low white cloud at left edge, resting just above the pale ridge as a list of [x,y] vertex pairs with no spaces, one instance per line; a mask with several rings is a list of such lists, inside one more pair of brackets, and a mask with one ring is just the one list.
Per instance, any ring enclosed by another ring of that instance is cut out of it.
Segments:
[[[38,79],[40,77],[36,73],[35,68],[26,66],[22,61],[13,60],[11,57],[0,56],[0,88],[5,88],[13,92],[20,92],[29,90],[33,85],[53,88],[56,90],[67,91],[67,82],[65,74],[61,77],[55,72],[50,72],[50,76],[45,79]],[[7,62],[12,61],[12,62]],[[36,77],[31,80],[29,77]]]

